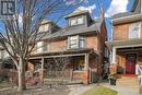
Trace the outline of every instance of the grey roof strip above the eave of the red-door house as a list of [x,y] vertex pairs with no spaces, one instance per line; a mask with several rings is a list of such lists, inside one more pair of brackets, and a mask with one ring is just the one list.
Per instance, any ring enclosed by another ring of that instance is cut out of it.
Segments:
[[130,16],[130,15],[135,15],[139,14],[138,12],[123,12],[123,13],[118,13],[111,16],[113,19],[119,19],[119,17],[125,17],[125,16]]

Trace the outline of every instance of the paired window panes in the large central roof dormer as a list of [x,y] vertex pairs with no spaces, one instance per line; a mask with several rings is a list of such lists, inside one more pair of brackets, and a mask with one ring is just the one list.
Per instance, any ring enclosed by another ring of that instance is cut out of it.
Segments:
[[83,16],[76,16],[76,17],[72,17],[69,20],[69,24],[70,26],[73,25],[80,25],[84,23],[84,17]]

